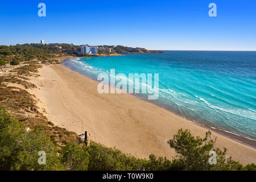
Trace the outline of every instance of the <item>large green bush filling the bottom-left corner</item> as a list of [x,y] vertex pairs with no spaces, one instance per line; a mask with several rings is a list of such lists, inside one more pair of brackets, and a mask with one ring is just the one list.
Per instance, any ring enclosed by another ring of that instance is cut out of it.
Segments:
[[[27,132],[0,106],[0,169],[1,170],[63,170],[57,147],[43,133],[41,127]],[[45,151],[47,165],[38,163],[39,151]]]

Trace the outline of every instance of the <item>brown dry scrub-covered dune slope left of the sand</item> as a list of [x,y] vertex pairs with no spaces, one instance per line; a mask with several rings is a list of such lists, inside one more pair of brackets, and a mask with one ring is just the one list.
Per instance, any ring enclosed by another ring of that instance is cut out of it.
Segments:
[[[36,106],[36,98],[26,89],[36,89],[30,77],[38,77],[38,68],[42,65],[37,61],[28,61],[30,65],[16,68],[8,74],[0,76],[0,105],[18,121],[23,122],[33,130],[36,126],[42,126],[44,132],[59,146],[66,144],[72,139],[78,140],[77,134],[64,128],[54,126],[51,121],[39,111]],[[15,84],[16,86],[8,86]]]

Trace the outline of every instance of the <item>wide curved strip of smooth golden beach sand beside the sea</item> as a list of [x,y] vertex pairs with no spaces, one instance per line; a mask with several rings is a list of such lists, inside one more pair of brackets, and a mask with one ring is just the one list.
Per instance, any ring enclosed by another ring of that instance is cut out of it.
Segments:
[[[30,92],[51,122],[77,134],[86,130],[92,134],[89,139],[139,158],[155,154],[171,159],[176,154],[167,141],[180,128],[201,137],[208,131],[130,94],[99,94],[98,82],[63,65],[43,66],[39,75],[32,82],[40,89]],[[217,137],[216,147],[228,148],[233,159],[256,163],[254,148],[214,132],[213,137]]]

